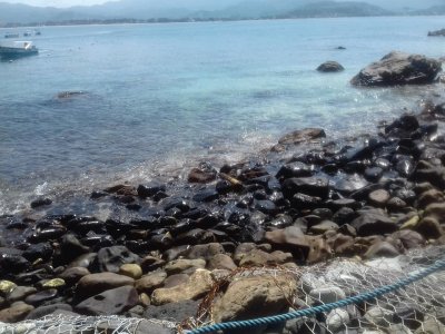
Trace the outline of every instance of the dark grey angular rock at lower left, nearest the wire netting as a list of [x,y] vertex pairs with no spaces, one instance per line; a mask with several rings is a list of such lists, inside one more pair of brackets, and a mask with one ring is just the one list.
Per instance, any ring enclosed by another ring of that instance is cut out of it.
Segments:
[[115,315],[136,306],[139,302],[132,286],[121,286],[97,294],[75,306],[76,312],[89,315]]

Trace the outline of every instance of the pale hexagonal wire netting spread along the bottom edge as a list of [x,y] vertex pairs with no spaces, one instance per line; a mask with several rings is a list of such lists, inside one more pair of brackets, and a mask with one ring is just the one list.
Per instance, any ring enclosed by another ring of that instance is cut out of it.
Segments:
[[[298,267],[261,267],[239,269],[220,279],[219,284],[202,301],[196,317],[181,324],[119,316],[66,316],[51,315],[37,321],[17,324],[0,324],[0,334],[26,333],[131,333],[168,334],[192,333],[212,321],[212,305],[227,284],[239,277],[287,274],[297,283],[296,294],[287,298],[290,311],[310,308],[317,305],[342,301],[346,297],[393,284],[418,273],[436,261],[445,259],[445,247],[429,246],[412,249],[394,258],[368,262],[359,259],[333,259],[323,264]],[[313,316],[287,321],[279,325],[259,328],[241,328],[217,333],[403,333],[445,334],[445,272],[409,284],[396,292],[376,296],[366,302]]]

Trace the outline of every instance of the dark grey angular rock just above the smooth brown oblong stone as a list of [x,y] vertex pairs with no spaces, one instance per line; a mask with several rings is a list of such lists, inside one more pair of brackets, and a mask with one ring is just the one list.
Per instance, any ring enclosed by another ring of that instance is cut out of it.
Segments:
[[105,247],[98,252],[90,271],[118,273],[121,265],[138,262],[140,257],[125,246]]

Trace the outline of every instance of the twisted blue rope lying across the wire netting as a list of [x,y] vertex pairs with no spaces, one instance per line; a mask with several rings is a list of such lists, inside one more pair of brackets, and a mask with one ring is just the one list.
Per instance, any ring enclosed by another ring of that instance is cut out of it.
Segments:
[[271,324],[284,323],[288,320],[297,318],[297,317],[301,317],[301,316],[315,316],[316,314],[322,313],[322,312],[329,312],[329,311],[338,308],[338,307],[345,307],[350,304],[357,304],[357,303],[377,298],[382,295],[385,295],[387,293],[390,293],[390,292],[394,292],[402,287],[405,287],[416,281],[419,281],[419,279],[422,279],[435,272],[442,271],[442,269],[445,269],[445,259],[437,261],[432,266],[429,266],[423,271],[419,271],[415,274],[409,274],[407,277],[399,279],[394,284],[385,285],[385,286],[378,287],[374,291],[363,293],[363,294],[359,294],[359,295],[356,295],[353,297],[348,297],[348,298],[345,298],[345,299],[342,299],[342,301],[338,301],[335,303],[324,304],[324,305],[319,305],[319,306],[315,306],[315,307],[310,307],[310,308],[298,310],[295,312],[274,315],[274,316],[259,317],[259,318],[254,318],[254,320],[248,320],[248,321],[214,324],[210,326],[194,330],[191,332],[188,332],[188,334],[205,334],[205,333],[214,333],[214,332],[224,331],[224,330],[238,330],[238,328],[246,328],[246,327],[256,327],[256,326],[260,326],[260,325],[271,325]]

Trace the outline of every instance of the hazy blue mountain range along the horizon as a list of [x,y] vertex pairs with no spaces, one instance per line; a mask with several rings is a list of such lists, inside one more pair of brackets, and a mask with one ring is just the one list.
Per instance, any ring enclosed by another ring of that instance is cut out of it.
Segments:
[[[0,0],[1,1],[1,0]],[[372,0],[369,0],[370,2]],[[373,0],[378,3],[387,0]],[[443,0],[394,0],[394,4],[436,4]],[[415,13],[444,13],[444,6]],[[413,11],[406,8],[408,11]],[[113,21],[113,20],[209,20],[209,19],[260,19],[260,18],[309,18],[309,17],[368,17],[406,13],[392,11],[368,2],[317,1],[317,0],[120,0],[98,6],[71,8],[31,7],[0,2],[0,26],[7,23],[49,23]]]

